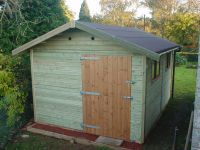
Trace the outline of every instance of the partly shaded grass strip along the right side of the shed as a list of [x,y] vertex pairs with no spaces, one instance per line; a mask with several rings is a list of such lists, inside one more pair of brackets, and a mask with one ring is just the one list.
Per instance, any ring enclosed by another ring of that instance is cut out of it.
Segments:
[[176,67],[175,95],[146,139],[145,150],[171,150],[175,127],[176,150],[183,150],[195,98],[196,69]]

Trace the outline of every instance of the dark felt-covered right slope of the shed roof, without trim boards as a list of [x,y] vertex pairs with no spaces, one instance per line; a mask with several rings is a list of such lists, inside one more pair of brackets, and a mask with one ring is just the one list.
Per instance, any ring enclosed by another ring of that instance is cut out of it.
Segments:
[[101,30],[110,35],[118,37],[124,41],[137,44],[138,46],[144,47],[155,53],[162,53],[172,48],[179,47],[177,44],[168,40],[162,39],[153,34],[144,32],[137,28],[119,27],[119,26],[108,26],[95,23],[81,22],[82,24],[96,30]]

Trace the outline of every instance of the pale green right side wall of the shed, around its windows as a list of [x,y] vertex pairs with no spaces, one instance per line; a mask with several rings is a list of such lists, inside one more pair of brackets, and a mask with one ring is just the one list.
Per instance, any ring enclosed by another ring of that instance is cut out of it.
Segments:
[[[160,76],[154,80],[151,77],[151,60],[147,59],[145,136],[154,126],[170,99],[173,61],[171,61],[170,67],[167,68],[166,57],[165,54],[160,58]],[[171,60],[172,58],[171,54]]]

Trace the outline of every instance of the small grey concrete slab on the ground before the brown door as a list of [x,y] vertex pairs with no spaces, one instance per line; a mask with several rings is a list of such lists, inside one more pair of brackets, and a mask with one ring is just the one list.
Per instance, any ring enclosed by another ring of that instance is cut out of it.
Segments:
[[96,139],[96,142],[97,143],[106,144],[106,145],[112,145],[112,146],[120,146],[122,144],[123,140],[113,139],[113,138],[104,137],[104,136],[99,136]]

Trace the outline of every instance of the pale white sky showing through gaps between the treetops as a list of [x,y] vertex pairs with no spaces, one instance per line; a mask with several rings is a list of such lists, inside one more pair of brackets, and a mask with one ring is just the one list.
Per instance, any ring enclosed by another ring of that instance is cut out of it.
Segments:
[[[100,6],[99,6],[100,0],[87,0],[88,7],[90,9],[90,14],[93,16],[95,14],[100,13]],[[71,9],[71,11],[74,13],[75,20],[78,19],[79,10],[81,7],[83,0],[65,0],[65,3],[68,5],[68,7]],[[139,8],[136,17],[141,17],[146,15],[147,17],[150,17],[150,10],[147,8]]]

